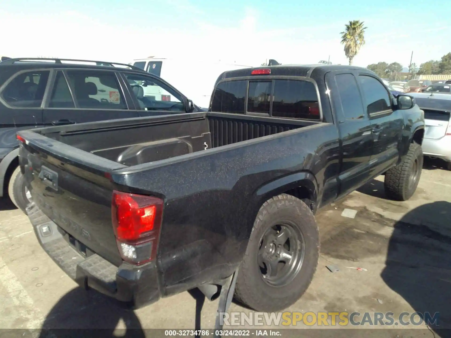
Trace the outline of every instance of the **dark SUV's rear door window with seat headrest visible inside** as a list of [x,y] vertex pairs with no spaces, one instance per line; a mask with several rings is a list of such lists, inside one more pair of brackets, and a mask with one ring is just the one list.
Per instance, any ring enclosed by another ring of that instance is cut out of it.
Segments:
[[127,109],[115,73],[68,70],[67,75],[79,108]]

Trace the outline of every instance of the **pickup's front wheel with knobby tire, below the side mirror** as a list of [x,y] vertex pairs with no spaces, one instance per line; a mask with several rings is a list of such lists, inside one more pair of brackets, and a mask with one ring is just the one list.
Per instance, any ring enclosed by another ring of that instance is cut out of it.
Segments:
[[405,159],[385,174],[384,187],[393,200],[407,201],[418,187],[423,168],[423,151],[417,143],[411,143]]

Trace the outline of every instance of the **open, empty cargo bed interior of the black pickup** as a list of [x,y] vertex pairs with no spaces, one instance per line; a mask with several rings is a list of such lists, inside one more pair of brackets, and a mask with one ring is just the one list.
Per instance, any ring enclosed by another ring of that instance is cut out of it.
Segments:
[[[315,122],[193,113],[41,129],[42,136],[126,166],[302,128]],[[318,122],[316,122],[318,123]]]

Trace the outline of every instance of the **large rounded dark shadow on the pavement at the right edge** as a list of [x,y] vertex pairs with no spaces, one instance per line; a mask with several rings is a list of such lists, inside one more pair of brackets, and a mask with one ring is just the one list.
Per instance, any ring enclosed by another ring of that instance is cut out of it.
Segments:
[[436,324],[429,326],[450,337],[451,203],[419,206],[396,222],[381,277],[424,318],[438,312]]

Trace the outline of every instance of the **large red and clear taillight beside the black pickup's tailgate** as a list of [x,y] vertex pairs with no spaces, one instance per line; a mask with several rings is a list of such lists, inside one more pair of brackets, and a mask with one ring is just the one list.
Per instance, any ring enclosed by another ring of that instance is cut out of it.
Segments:
[[143,264],[156,256],[163,200],[113,191],[111,221],[122,258]]

